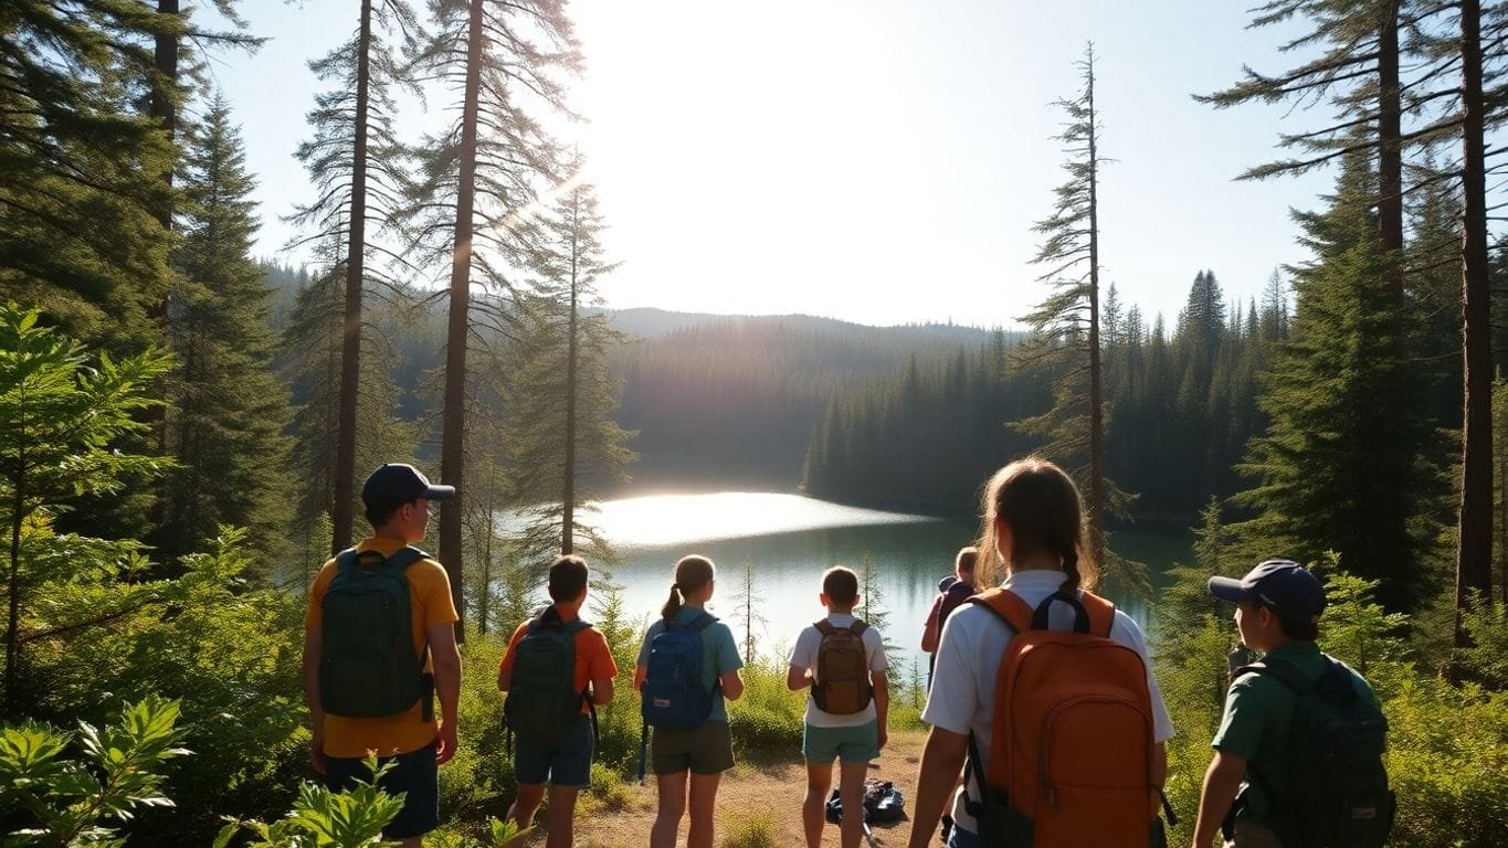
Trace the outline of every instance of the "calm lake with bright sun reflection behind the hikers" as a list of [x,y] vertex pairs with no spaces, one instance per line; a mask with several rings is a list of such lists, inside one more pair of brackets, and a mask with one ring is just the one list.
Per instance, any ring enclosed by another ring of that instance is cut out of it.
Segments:
[[[953,571],[958,548],[970,544],[976,521],[843,506],[795,494],[710,493],[626,497],[597,505],[585,517],[612,542],[621,562],[612,577],[624,587],[630,616],[659,615],[670,595],[676,560],[707,556],[718,565],[718,586],[709,612],[728,624],[742,645],[740,604],[745,569],[752,571],[756,645],[762,654],[784,652],[796,633],[823,615],[817,601],[822,572],[832,565],[861,571],[875,566],[879,598],[866,598],[888,618],[885,637],[899,651],[891,664],[906,669],[912,655],[921,667],[921,627],[936,595],[938,580]],[[1188,562],[1188,541],[1154,533],[1114,533],[1117,550],[1146,562],[1157,577],[1175,559]],[[1117,598],[1117,601],[1120,601]],[[1143,619],[1139,602],[1126,602]],[[864,607],[860,618],[870,618]],[[897,672],[899,673],[899,672]]]

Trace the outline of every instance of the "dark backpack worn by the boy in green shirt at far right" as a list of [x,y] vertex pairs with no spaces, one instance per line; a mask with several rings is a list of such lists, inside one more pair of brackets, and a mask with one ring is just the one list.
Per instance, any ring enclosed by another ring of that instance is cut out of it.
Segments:
[[1235,678],[1270,675],[1297,696],[1285,791],[1274,794],[1271,776],[1250,764],[1247,770],[1267,798],[1268,825],[1285,846],[1381,848],[1396,812],[1383,765],[1387,717],[1356,691],[1344,664],[1329,654],[1324,661],[1318,678],[1276,658],[1235,672]]

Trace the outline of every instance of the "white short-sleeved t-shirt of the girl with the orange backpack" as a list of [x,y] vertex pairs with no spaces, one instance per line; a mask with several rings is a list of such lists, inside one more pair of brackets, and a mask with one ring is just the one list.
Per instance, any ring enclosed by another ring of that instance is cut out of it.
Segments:
[[[1006,577],[1003,587],[1021,596],[1036,609],[1048,595],[1057,592],[1066,575],[1062,571],[1018,571]],[[1048,612],[1048,627],[1069,630],[1074,625],[1072,609],[1068,604],[1053,604]],[[995,676],[1000,658],[1015,631],[994,612],[977,604],[964,604],[947,618],[942,639],[938,643],[936,667],[932,670],[932,691],[921,720],[955,734],[974,734],[979,753],[989,756],[989,741],[994,737],[991,718],[994,714]],[[1110,639],[1134,649],[1146,664],[1146,684],[1152,693],[1152,738],[1164,741],[1173,735],[1173,720],[1167,717],[1163,693],[1157,688],[1152,673],[1152,657],[1146,649],[1146,636],[1131,616],[1116,610],[1110,625]],[[965,767],[967,789],[971,798],[982,798],[974,780],[974,770]],[[964,797],[953,800],[953,822],[970,833],[979,833],[979,822],[964,809]]]

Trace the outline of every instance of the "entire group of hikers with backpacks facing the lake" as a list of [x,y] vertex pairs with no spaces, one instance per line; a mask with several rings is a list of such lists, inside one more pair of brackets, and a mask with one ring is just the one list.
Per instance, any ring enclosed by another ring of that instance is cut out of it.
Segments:
[[[458,616],[443,568],[413,547],[430,503],[454,494],[412,465],[372,471],[362,487],[372,535],[324,563],[305,618],[314,768],[344,789],[369,779],[375,753],[379,785],[404,797],[383,834],[404,846],[436,827],[437,767],[457,746]],[[1167,845],[1173,721],[1142,628],[1092,592],[1083,538],[1078,490],[1057,465],[1028,456],[986,483],[980,539],[938,586],[921,637],[930,731],[911,848],[939,831],[953,848]],[[594,709],[612,700],[618,675],[606,639],[582,619],[588,584],[582,557],[558,557],[550,604],[517,627],[498,669],[517,780],[507,815],[532,825],[547,792],[547,848],[573,843]],[[727,702],[743,694],[743,661],[706,610],[715,587],[712,560],[677,562],[635,661],[639,774],[647,761],[659,798],[650,848],[674,848],[683,818],[686,845],[712,846],[718,783],[734,762]],[[857,848],[866,776],[888,741],[888,664],[882,634],[854,615],[854,571],[829,568],[817,593],[826,615],[796,636],[786,681],[807,693],[801,816],[817,848],[841,809],[841,845]],[[1262,660],[1231,669],[1190,843],[1209,848],[1218,831],[1226,848],[1380,846],[1393,815],[1387,723],[1366,681],[1316,646],[1323,584],[1273,559],[1238,580],[1211,577],[1209,593],[1235,604],[1240,649]]]

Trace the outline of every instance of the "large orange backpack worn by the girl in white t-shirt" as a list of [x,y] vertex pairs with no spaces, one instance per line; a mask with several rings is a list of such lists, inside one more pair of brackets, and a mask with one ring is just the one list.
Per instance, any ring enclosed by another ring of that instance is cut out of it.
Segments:
[[[1000,660],[988,761],[968,738],[985,794],[968,798],[968,810],[983,843],[1146,848],[1161,830],[1152,696],[1142,657],[1110,639],[1114,604],[1059,592],[1033,610],[1004,589],[968,602],[1015,630]],[[1054,602],[1074,609],[1074,630],[1048,630]]]

